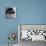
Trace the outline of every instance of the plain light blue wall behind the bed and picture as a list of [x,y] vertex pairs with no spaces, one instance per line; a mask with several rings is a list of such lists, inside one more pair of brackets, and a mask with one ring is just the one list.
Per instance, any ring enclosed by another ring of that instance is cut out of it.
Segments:
[[[7,6],[16,6],[16,19],[5,19]],[[8,43],[9,32],[17,33],[18,24],[46,24],[46,0],[0,0],[0,43]]]

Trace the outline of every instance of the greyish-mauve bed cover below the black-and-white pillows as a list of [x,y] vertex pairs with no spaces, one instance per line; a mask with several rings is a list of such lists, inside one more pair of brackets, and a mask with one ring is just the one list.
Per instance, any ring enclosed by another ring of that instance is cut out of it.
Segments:
[[20,46],[46,46],[45,41],[34,41],[32,42],[31,40],[21,40],[20,41]]

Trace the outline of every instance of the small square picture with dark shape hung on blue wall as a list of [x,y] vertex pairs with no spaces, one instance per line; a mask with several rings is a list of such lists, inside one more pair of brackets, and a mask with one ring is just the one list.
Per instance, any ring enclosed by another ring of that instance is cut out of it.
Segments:
[[5,18],[8,19],[16,18],[16,7],[7,7],[5,9]]

